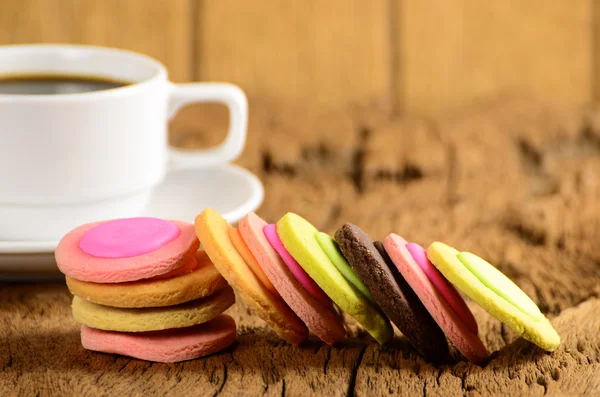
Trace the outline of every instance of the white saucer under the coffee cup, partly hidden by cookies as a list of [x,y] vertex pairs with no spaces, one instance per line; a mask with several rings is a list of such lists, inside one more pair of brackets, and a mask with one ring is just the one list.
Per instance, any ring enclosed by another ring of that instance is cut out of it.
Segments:
[[[261,204],[264,190],[250,171],[233,164],[173,170],[156,188],[143,216],[193,222],[211,207],[229,223]],[[0,273],[56,273],[58,241],[0,241]]]

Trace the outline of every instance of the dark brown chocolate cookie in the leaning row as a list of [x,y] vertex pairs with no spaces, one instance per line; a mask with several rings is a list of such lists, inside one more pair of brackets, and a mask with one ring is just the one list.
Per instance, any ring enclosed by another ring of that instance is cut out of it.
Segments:
[[346,223],[335,232],[340,250],[373,295],[375,302],[426,359],[448,360],[446,337],[394,266],[381,243]]

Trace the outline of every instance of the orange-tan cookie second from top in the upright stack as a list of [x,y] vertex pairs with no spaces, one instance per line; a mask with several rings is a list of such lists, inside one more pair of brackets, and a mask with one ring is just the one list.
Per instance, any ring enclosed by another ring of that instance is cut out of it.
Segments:
[[88,302],[124,308],[178,305],[227,286],[206,252],[198,251],[196,261],[198,264],[191,273],[167,279],[99,284],[66,276],[67,286],[71,293]]

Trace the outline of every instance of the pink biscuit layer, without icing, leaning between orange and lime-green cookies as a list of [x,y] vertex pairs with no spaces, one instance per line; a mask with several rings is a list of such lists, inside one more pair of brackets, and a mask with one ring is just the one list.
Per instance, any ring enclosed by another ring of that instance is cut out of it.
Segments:
[[334,345],[344,337],[345,330],[340,317],[333,310],[331,301],[328,301],[327,306],[323,306],[298,282],[265,237],[265,226],[267,223],[254,212],[238,222],[240,233],[248,248],[283,300],[311,332],[323,342]]

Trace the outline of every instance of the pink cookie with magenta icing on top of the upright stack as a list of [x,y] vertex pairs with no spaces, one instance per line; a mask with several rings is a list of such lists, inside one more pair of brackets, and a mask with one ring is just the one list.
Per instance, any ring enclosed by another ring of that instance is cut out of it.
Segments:
[[[154,222],[153,232],[140,232],[137,228],[124,227],[128,222],[138,226],[147,224],[146,222],[140,224],[137,219],[139,218],[88,223],[70,231],[56,247],[55,258],[58,268],[67,276],[81,281],[94,283],[136,281],[159,276],[188,264],[200,246],[192,224],[158,220],[159,222]],[[162,227],[156,227],[161,223]],[[168,225],[165,226],[164,223],[170,223],[178,229],[174,239],[173,229]],[[114,229],[111,228],[111,224],[115,226]],[[95,230],[97,227],[99,231]],[[136,237],[144,241],[137,241]],[[152,237],[151,241],[145,241],[149,237]],[[134,248],[122,246],[118,241],[120,238]],[[88,253],[80,247],[81,241],[84,241],[83,247]],[[122,258],[110,257],[115,256],[116,252],[125,255],[139,254]]]

